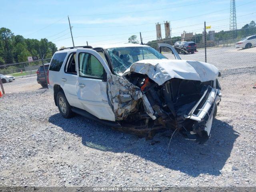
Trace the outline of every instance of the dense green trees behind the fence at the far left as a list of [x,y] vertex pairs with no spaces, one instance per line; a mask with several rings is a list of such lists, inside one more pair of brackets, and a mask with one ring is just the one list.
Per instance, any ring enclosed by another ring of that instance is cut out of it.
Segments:
[[29,56],[51,58],[56,51],[56,45],[46,38],[26,39],[8,28],[0,28],[0,65],[26,62]]

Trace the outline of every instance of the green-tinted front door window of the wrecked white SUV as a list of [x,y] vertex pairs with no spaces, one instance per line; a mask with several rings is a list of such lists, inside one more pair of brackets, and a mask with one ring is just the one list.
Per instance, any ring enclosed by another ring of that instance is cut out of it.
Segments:
[[102,79],[104,68],[100,61],[90,53],[79,53],[79,75]]

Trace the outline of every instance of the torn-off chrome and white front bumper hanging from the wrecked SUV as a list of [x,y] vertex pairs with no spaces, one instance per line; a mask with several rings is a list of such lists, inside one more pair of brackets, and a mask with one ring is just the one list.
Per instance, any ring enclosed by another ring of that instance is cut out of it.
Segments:
[[214,112],[221,97],[222,94],[219,89],[208,86],[192,110],[187,115],[184,115],[185,118],[194,120],[192,131],[186,133],[188,139],[197,140],[203,144],[210,138]]

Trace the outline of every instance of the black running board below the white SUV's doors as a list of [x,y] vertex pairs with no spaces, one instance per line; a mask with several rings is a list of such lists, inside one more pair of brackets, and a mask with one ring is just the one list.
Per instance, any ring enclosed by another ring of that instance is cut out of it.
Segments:
[[79,115],[82,115],[82,116],[84,116],[84,117],[86,117],[88,119],[94,120],[96,122],[100,122],[100,123],[102,123],[102,124],[104,124],[106,126],[110,126],[110,127],[114,127],[114,128],[120,128],[121,127],[121,125],[118,122],[99,119],[98,117],[90,114],[86,110],[82,110],[82,109],[76,108],[76,107],[73,107],[71,110],[73,112],[79,114]]

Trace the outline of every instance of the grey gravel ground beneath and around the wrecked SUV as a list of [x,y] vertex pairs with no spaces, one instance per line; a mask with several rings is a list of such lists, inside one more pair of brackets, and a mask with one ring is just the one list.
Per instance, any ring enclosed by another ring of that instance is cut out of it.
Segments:
[[[0,186],[255,186],[256,73],[220,78],[204,145],[172,132],[154,141],[82,116],[64,119],[48,90],[0,98]],[[154,144],[155,143],[155,144]]]

